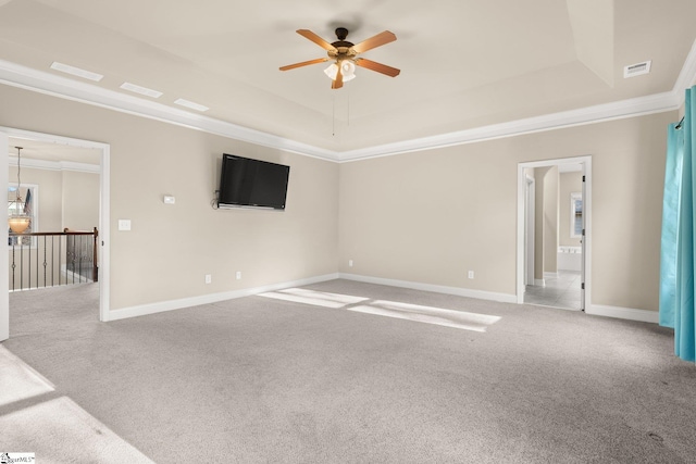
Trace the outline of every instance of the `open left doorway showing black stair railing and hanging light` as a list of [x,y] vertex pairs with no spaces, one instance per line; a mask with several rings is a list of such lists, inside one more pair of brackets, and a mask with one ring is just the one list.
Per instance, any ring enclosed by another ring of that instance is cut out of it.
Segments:
[[10,291],[98,283],[101,150],[20,137],[8,145],[8,204],[29,217],[8,240]]

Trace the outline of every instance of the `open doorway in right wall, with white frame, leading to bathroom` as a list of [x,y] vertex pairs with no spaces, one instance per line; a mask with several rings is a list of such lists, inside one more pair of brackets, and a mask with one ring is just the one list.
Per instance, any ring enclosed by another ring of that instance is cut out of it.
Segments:
[[518,303],[591,303],[592,156],[518,165]]

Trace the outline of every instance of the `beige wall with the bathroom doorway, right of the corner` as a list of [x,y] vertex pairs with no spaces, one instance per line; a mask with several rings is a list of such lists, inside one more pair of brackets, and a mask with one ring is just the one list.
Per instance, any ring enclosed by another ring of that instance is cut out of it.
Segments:
[[514,294],[518,163],[592,155],[592,302],[657,310],[666,127],[675,120],[661,113],[341,164],[340,271]]

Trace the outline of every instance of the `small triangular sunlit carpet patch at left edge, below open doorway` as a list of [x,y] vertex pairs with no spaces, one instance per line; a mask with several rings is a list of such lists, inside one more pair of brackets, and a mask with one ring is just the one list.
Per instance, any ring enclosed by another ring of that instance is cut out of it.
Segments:
[[0,406],[53,390],[50,381],[0,346]]

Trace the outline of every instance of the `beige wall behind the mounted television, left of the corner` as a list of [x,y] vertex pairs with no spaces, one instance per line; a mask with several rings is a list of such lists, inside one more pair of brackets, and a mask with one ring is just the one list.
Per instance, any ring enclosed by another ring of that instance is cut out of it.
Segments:
[[[0,101],[2,126],[110,145],[111,310],[336,272],[335,163],[7,86]],[[286,211],[213,210],[223,152],[290,165]]]

